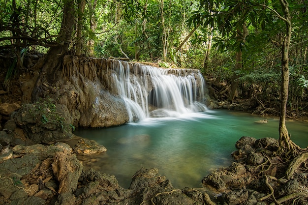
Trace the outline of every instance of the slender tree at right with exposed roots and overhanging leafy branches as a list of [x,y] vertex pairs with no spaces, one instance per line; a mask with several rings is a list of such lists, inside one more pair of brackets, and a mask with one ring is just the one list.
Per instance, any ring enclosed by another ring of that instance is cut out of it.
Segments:
[[[280,4],[280,6],[278,6]],[[290,6],[287,0],[258,1],[258,0],[200,0],[198,12],[194,12],[190,18],[194,25],[212,25],[217,24],[217,28],[222,35],[232,34],[231,37],[239,37],[239,25],[244,25],[249,20],[256,29],[264,30],[267,26],[273,25],[272,22],[281,20],[285,27],[276,32],[282,33],[283,43],[281,46],[281,87],[280,87],[280,118],[279,118],[279,150],[278,154],[292,154],[296,157],[304,151],[295,145],[289,136],[286,128],[286,107],[288,100],[289,87],[289,49],[292,35],[292,24],[290,15]],[[204,11],[212,11],[204,12]],[[255,17],[257,16],[257,17]],[[273,28],[272,28],[273,29]],[[275,31],[275,29],[273,29]],[[242,34],[243,35],[243,34]],[[239,39],[239,38],[238,38]],[[243,35],[241,43],[245,43]],[[269,39],[270,40],[270,39]],[[240,61],[240,58],[237,58]],[[287,156],[288,157],[288,156]]]

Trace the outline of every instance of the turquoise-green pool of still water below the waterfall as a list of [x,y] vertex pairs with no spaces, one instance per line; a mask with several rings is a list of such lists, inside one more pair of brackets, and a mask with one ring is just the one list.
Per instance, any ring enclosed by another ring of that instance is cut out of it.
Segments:
[[[260,119],[269,122],[255,123]],[[278,139],[278,124],[277,117],[210,110],[178,118],[147,118],[119,127],[78,129],[74,134],[107,148],[106,153],[94,156],[91,166],[115,175],[124,188],[141,167],[158,168],[159,175],[170,179],[175,188],[184,188],[201,187],[211,169],[229,166],[230,154],[242,136]],[[288,120],[286,125],[291,139],[307,147],[308,122]]]

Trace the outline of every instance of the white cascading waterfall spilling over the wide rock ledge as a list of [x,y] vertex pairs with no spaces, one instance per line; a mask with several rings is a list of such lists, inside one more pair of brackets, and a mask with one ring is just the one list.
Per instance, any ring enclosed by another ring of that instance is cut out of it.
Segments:
[[146,117],[177,117],[206,111],[205,82],[196,69],[163,69],[113,60],[112,82],[123,98],[129,121]]

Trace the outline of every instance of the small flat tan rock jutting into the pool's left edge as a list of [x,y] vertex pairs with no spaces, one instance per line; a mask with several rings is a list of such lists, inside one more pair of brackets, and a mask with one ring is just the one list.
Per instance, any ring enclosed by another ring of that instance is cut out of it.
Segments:
[[73,147],[73,151],[81,155],[92,155],[105,152],[107,149],[105,146],[98,145],[94,141],[80,139],[78,143]]

